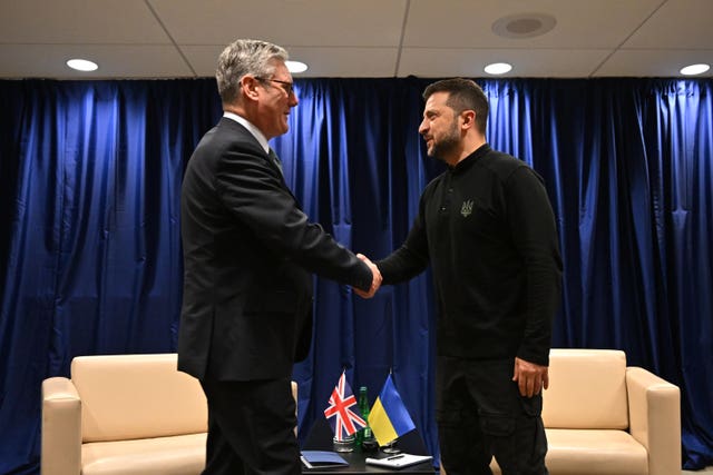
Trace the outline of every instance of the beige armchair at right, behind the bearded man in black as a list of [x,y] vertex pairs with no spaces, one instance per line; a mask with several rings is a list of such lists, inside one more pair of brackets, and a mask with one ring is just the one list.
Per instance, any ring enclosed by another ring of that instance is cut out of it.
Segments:
[[550,474],[681,475],[678,387],[624,352],[553,349],[543,398]]

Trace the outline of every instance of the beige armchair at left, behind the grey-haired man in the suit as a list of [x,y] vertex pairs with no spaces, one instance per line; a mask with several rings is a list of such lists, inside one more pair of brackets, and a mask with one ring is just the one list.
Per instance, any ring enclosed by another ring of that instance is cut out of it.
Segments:
[[71,379],[42,383],[42,475],[197,475],[206,431],[203,389],[176,354],[77,357]]

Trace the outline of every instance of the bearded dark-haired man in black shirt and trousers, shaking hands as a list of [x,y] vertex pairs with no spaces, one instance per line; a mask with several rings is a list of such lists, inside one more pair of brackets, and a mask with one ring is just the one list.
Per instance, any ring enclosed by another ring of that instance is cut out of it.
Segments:
[[547,474],[541,388],[561,291],[543,180],[485,140],[488,99],[470,80],[423,92],[419,133],[448,170],[423,191],[406,243],[377,261],[383,284],[430,264],[438,308],[437,420],[449,475]]

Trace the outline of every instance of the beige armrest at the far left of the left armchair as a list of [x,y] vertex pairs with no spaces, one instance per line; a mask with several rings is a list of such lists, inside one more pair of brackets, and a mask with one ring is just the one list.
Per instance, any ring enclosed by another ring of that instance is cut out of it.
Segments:
[[65,377],[42,382],[41,475],[79,475],[81,466],[81,400]]

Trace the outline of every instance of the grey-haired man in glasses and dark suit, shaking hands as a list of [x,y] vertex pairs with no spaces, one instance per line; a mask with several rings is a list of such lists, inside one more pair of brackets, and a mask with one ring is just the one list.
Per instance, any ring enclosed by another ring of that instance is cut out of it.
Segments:
[[267,140],[297,105],[286,51],[237,40],[218,58],[224,116],[182,190],[178,369],[208,402],[204,474],[300,474],[294,362],[310,349],[315,273],[373,295],[381,275],[310,222]]

